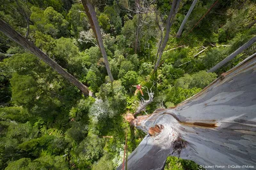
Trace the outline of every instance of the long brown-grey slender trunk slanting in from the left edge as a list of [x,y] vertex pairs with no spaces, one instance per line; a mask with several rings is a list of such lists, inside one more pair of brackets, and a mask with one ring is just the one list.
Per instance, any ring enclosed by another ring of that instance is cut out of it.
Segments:
[[66,80],[70,81],[73,85],[76,85],[78,89],[80,89],[84,96],[89,95],[88,87],[83,85],[79,80],[77,80],[70,73],[65,71],[60,65],[58,65],[54,60],[48,57],[44,52],[42,52],[39,48],[37,48],[33,43],[31,43],[28,39],[24,38],[19,32],[15,31],[8,25],[6,22],[0,19],[0,31],[3,32],[10,39],[21,45],[26,50],[29,50],[31,53],[35,54],[38,58],[42,59],[46,64],[48,64],[52,69],[60,73]]

